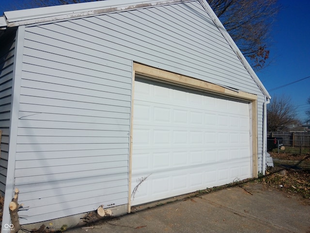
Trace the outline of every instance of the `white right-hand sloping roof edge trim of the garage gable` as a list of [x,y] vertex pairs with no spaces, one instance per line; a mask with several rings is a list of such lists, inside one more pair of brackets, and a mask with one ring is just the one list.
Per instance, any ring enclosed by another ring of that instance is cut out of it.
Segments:
[[217,15],[214,13],[212,8],[209,6],[209,4],[206,2],[206,0],[199,0],[202,3],[203,8],[206,10],[206,12],[210,15],[211,19],[219,29],[219,31],[222,33],[224,38],[227,40],[229,45],[232,47],[238,58],[240,59],[241,63],[244,65],[244,67],[248,70],[248,73],[253,78],[254,82],[257,84],[257,86],[261,89],[263,94],[268,98],[271,99],[271,96],[269,95],[266,88],[263,86],[263,83],[260,81],[258,76],[256,75],[253,68],[249,65],[247,59],[243,55],[243,53],[239,50],[236,43],[233,41],[233,38],[230,36],[230,34],[226,31],[225,27],[221,23],[221,21],[218,19]]

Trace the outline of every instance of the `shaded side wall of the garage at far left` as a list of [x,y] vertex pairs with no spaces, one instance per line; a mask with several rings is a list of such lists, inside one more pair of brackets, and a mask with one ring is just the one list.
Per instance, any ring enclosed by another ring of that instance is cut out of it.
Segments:
[[0,45],[0,130],[2,131],[0,145],[0,192],[3,196],[8,166],[15,33],[5,37],[0,41]]

